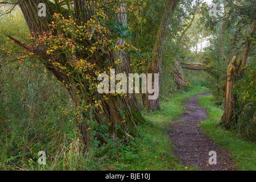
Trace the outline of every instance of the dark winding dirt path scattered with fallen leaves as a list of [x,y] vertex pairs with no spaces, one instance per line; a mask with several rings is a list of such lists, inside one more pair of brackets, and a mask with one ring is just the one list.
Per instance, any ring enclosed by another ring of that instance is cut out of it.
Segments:
[[[201,94],[196,97],[184,100],[185,113],[180,115],[173,126],[168,130],[172,142],[176,146],[174,155],[181,158],[184,166],[199,167],[204,171],[234,170],[233,162],[228,151],[222,150],[213,143],[199,128],[201,122],[207,119],[208,115],[204,108],[197,103],[199,97],[207,96]],[[216,151],[217,164],[209,164],[210,151]]]

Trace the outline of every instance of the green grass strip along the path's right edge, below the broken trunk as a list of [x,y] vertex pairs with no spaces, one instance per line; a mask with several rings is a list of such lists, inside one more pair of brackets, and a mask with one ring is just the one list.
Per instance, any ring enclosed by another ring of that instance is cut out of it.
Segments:
[[207,109],[209,118],[201,123],[200,127],[204,133],[222,148],[229,150],[235,160],[237,170],[255,171],[256,170],[256,144],[246,142],[240,135],[227,131],[220,126],[220,119],[223,110],[212,105],[213,96],[199,98],[200,105]]

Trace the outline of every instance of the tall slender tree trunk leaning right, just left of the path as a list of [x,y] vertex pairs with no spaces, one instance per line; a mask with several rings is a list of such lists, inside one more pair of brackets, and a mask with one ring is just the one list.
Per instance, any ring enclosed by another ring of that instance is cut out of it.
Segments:
[[[175,7],[177,6],[177,3],[179,0],[168,0],[166,1],[166,4],[164,6],[164,12],[163,12],[163,20],[160,23],[158,34],[156,35],[155,45],[153,48],[153,56],[151,58],[150,63],[148,64],[147,73],[159,74],[159,85],[158,88],[160,89],[160,82],[162,78],[162,52],[163,52],[163,44],[164,39],[166,38],[166,31],[168,26],[168,20],[170,18],[170,15],[172,11],[174,11]],[[152,88],[154,88],[154,78],[152,79]],[[159,90],[158,90],[159,93]],[[160,110],[160,104],[159,104],[159,97],[156,100],[149,100],[148,96],[150,96],[149,93],[145,94],[145,104],[147,109],[149,110]]]

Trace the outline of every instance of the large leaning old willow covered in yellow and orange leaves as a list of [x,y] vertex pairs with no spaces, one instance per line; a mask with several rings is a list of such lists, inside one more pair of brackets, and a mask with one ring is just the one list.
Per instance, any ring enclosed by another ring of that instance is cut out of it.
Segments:
[[[126,21],[134,6],[111,0],[18,0],[11,5],[19,5],[30,35],[23,42],[7,36],[27,50],[22,59],[37,56],[67,88],[81,142],[89,146],[92,139],[104,143],[138,137],[143,119],[134,94],[100,94],[97,89],[100,81],[109,83],[98,79],[101,73],[110,75],[111,68],[115,74],[131,72],[129,54],[137,49],[126,44]],[[106,91],[108,84],[101,89]]]

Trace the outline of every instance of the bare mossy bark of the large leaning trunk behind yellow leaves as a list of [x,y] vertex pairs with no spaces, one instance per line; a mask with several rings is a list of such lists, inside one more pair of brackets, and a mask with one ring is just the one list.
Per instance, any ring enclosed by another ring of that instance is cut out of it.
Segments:
[[[89,2],[88,0],[78,0],[74,2],[75,14],[77,24],[81,24],[83,22],[87,22],[88,18],[90,18],[93,11],[93,6],[90,6],[91,11],[81,11],[86,8],[85,3]],[[53,13],[61,13],[60,6],[57,6],[47,0],[33,0],[33,1],[23,1],[18,0],[20,9],[26,19],[27,26],[31,32],[31,35],[43,35],[44,32],[50,30],[49,24],[52,22]],[[47,16],[39,17],[38,16],[38,5],[39,3],[46,4]],[[123,8],[126,8],[126,4],[122,4]],[[88,7],[87,9],[88,10]],[[126,25],[126,13],[117,13],[116,20],[118,22]],[[65,17],[68,14],[65,15]],[[33,33],[32,33],[33,32]],[[35,34],[36,33],[36,34]],[[97,92],[92,93],[90,97],[88,97],[88,93],[90,85],[86,80],[81,78],[81,72],[74,70],[72,75],[67,75],[66,72],[63,71],[60,67],[54,66],[53,63],[60,63],[65,65],[68,63],[67,57],[65,54],[57,54],[57,55],[47,55],[47,49],[43,46],[38,46],[31,48],[26,44],[20,42],[9,36],[9,38],[14,40],[14,43],[22,46],[29,51],[32,51],[35,55],[42,59],[42,63],[46,66],[46,68],[57,78],[57,80],[63,82],[66,86],[69,96],[72,99],[73,105],[77,107],[84,107],[84,103],[90,104],[94,101],[102,100],[104,96],[108,98],[108,100],[102,101],[102,109],[93,108],[88,109],[87,111],[82,110],[79,115],[76,116],[77,126],[80,131],[80,141],[89,146],[90,140],[92,137],[100,140],[101,143],[105,143],[104,137],[100,133],[100,128],[94,129],[96,132],[92,135],[92,124],[91,122],[98,122],[99,126],[108,126],[109,138],[116,139],[119,138],[130,138],[130,137],[138,137],[137,125],[143,122],[143,118],[141,113],[139,112],[137,100],[134,94],[130,94],[129,97],[121,97],[121,96],[113,96],[112,94],[99,94]],[[84,46],[88,47],[88,41],[82,40]],[[120,40],[118,42],[119,46],[125,45],[124,40]],[[85,57],[79,57],[78,53],[75,53],[77,59],[84,59]],[[110,56],[100,55],[94,53],[91,59],[97,60],[98,65],[114,65],[114,61],[120,59],[122,61],[122,65],[119,67],[115,67],[119,73],[125,72],[126,74],[131,73],[130,70],[130,60],[129,56],[124,52],[120,51],[112,51],[110,52]],[[93,76],[95,73],[91,73]],[[82,88],[81,83],[84,85]],[[92,97],[96,98],[95,100]]]

